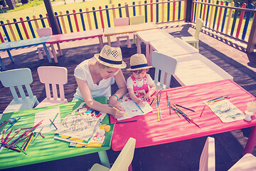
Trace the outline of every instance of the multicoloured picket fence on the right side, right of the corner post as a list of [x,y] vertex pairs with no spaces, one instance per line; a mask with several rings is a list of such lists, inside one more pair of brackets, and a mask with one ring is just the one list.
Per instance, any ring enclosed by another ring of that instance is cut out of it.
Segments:
[[191,21],[203,19],[206,28],[247,43],[255,14],[252,4],[196,0],[192,9]]

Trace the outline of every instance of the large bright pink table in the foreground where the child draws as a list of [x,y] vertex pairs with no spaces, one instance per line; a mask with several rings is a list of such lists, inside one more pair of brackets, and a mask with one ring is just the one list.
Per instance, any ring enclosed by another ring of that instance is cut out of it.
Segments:
[[[171,110],[171,115],[169,115],[166,93],[168,93],[171,103],[196,110],[196,113],[186,109],[183,109],[183,112],[188,114],[201,128],[193,125],[193,123],[188,123],[184,118],[178,118],[174,110]],[[206,107],[201,119],[199,119],[199,115],[204,106],[203,100],[218,98],[221,95],[227,95],[229,97],[228,100],[242,112],[246,110],[247,102],[256,100],[253,95],[230,80],[161,90],[161,103],[159,106],[163,120],[158,122],[154,103],[152,105],[154,109],[153,112],[127,119],[137,120],[137,122],[114,125],[112,149],[115,151],[122,150],[125,142],[127,142],[130,137],[136,139],[136,147],[139,148],[225,133],[231,130],[253,126],[254,128],[250,133],[250,138],[247,141],[244,153],[252,152],[256,142],[255,116],[252,117],[252,121],[250,122],[238,120],[231,123],[222,123],[210,108]],[[153,98],[155,98],[155,95],[153,95]],[[151,98],[151,100],[153,98]],[[110,123],[117,122],[121,121],[117,121],[110,116]]]

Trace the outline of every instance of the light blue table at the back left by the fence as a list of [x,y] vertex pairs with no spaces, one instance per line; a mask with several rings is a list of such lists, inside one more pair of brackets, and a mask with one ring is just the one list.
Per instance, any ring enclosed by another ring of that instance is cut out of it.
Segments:
[[[14,62],[14,59],[12,58],[11,52],[10,52],[11,49],[24,48],[24,47],[28,47],[28,46],[36,46],[36,45],[41,45],[42,44],[43,48],[46,51],[48,61],[51,63],[52,60],[51,60],[50,54],[49,54],[49,52],[46,48],[46,41],[48,41],[48,39],[50,37],[51,36],[43,36],[43,37],[39,37],[39,38],[30,38],[30,39],[21,40],[21,41],[10,41],[10,42],[1,43],[0,44],[0,51],[7,51],[8,55],[11,59],[11,62]],[[4,70],[6,70],[6,67],[4,66],[4,63],[1,59],[1,57],[0,57],[0,64],[1,64],[1,67]]]

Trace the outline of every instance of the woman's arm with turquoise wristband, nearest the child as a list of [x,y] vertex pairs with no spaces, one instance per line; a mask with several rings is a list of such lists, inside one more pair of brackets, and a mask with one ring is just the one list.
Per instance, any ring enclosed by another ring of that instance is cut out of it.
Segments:
[[[127,93],[127,84],[126,81],[124,79],[124,75],[122,73],[121,70],[119,70],[119,72],[117,73],[117,75],[114,76],[114,80],[117,83],[118,86],[118,90],[116,93],[114,93],[115,95],[117,95],[118,98],[122,98],[123,95],[125,95]],[[117,108],[121,111],[124,111],[124,108],[122,107],[122,105],[117,101],[117,97],[115,95],[112,95],[110,97],[110,107],[114,107]]]

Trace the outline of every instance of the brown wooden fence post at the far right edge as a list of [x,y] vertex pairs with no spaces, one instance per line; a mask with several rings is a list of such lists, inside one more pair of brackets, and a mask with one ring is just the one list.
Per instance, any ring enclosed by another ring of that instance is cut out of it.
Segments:
[[255,46],[256,46],[256,16],[254,15],[252,20],[252,28],[250,31],[247,48],[246,48],[247,53],[252,53],[255,50]]

